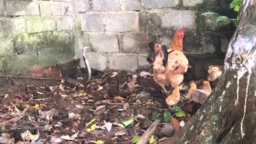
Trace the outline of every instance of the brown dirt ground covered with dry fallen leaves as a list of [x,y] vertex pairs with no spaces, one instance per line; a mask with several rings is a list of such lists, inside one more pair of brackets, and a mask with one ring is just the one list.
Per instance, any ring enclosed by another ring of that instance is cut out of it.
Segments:
[[152,76],[136,77],[122,71],[107,73],[87,85],[27,85],[25,91],[12,89],[1,97],[0,141],[132,143],[134,135],[141,136],[159,118],[153,137],[157,142],[171,137],[201,107],[188,102],[186,93],[181,91],[178,107],[170,109],[165,102],[168,94]]

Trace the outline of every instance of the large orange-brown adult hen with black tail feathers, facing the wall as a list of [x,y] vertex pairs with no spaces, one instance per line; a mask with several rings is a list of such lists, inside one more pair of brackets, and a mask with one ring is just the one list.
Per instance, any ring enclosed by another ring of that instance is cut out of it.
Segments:
[[[160,44],[149,43],[150,51],[153,54],[154,80],[162,86],[165,93],[169,92],[165,86],[178,87],[183,81],[183,74],[188,69],[188,59],[183,54],[184,30],[180,27],[174,35],[171,46],[168,50]],[[182,86],[179,86],[182,90]]]

